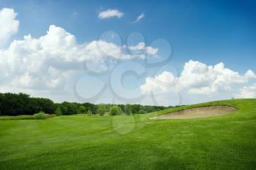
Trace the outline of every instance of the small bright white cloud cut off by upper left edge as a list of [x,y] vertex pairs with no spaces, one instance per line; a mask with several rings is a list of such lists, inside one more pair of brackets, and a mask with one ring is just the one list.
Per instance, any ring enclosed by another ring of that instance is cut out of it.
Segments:
[[4,8],[0,10],[0,47],[10,39],[10,36],[18,32],[20,23],[15,19],[16,16],[17,13],[14,9]]

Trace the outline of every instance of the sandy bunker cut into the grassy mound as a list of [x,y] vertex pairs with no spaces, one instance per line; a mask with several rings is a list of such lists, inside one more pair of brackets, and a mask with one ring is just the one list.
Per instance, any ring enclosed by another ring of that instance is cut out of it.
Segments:
[[150,119],[192,119],[197,117],[212,117],[219,115],[227,115],[235,112],[237,109],[228,106],[211,106],[211,107],[196,107],[192,109],[184,109],[177,112],[171,112],[165,115],[158,115]]

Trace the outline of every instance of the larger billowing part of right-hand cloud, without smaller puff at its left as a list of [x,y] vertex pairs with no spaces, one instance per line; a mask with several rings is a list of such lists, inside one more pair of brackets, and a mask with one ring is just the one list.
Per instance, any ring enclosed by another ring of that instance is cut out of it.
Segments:
[[[247,72],[248,73],[248,72]],[[254,74],[252,72],[252,74]],[[206,66],[198,61],[189,61],[179,78],[181,87],[189,88],[189,93],[212,94],[222,90],[229,90],[233,84],[246,83],[252,75],[241,75],[225,68],[224,63]]]

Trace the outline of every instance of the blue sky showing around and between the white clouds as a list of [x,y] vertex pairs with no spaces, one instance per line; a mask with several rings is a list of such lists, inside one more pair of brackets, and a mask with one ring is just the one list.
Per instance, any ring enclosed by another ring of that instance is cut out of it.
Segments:
[[[159,58],[167,58],[162,56],[169,50],[168,47],[162,45],[157,39],[164,39],[172,47],[172,58],[170,62],[165,62],[165,68],[159,71],[173,71],[173,66],[178,72],[184,71],[184,64],[188,61],[199,61],[207,66],[214,66],[217,63],[225,63],[225,68],[238,72],[243,75],[248,70],[256,72],[255,55],[256,55],[256,2],[255,1],[3,1],[0,0],[0,10],[3,8],[14,9],[18,13],[16,20],[20,25],[18,31],[10,36],[3,49],[7,49],[14,39],[23,39],[23,36],[31,34],[33,38],[39,39],[44,36],[50,25],[64,28],[65,31],[75,36],[79,44],[90,43],[99,40],[99,37],[105,31],[112,31],[115,37],[120,37],[119,45],[135,46],[140,42],[142,36],[148,47],[159,49]],[[100,19],[99,13],[108,9],[116,9],[124,15],[120,18],[112,17]],[[139,15],[144,17],[137,23],[134,23]],[[131,36],[131,34],[137,34]],[[104,35],[103,35],[104,36]],[[104,36],[105,37],[105,36]],[[129,39],[129,37],[132,37]],[[118,40],[117,40],[118,42]],[[136,42],[136,43],[135,43]],[[153,44],[151,43],[153,42]],[[115,41],[116,43],[116,41]],[[118,43],[117,43],[118,45]],[[1,56],[0,56],[1,57]],[[149,60],[154,61],[154,58]],[[157,60],[157,59],[156,59]],[[161,59],[159,59],[161,60]],[[143,60],[133,59],[132,61],[144,64]],[[122,61],[116,61],[118,64]],[[192,64],[192,63],[191,63]],[[117,64],[114,63],[113,67]],[[145,65],[143,65],[145,66]],[[146,77],[155,77],[158,69],[162,68],[162,64],[148,67],[146,66]],[[81,67],[78,65],[78,67]],[[129,69],[132,66],[124,66]],[[78,77],[83,76],[84,72],[67,78],[65,90],[73,86],[74,81]],[[175,74],[175,73],[173,73]],[[180,75],[176,74],[176,77]],[[97,77],[94,75],[94,77]],[[101,74],[99,79],[107,83],[110,73]],[[140,85],[146,82],[146,77],[136,80],[132,76],[124,79],[124,86],[140,88]],[[247,84],[239,84],[232,86],[233,90],[229,90],[226,95],[214,96],[214,98],[206,98],[197,96],[195,101],[208,101],[213,99],[230,98],[233,93],[239,93],[241,88],[254,89],[253,80],[248,80]],[[86,83],[86,85],[95,87],[94,82]],[[227,83],[230,85],[230,83]],[[83,90],[89,89],[84,86]],[[209,84],[207,84],[209,85]],[[227,85],[226,85],[227,86]],[[237,87],[239,86],[239,87]],[[252,87],[253,86],[253,87]],[[69,87],[69,88],[68,88]],[[83,87],[83,85],[82,85]],[[15,87],[17,88],[17,87]],[[12,89],[15,89],[12,88]],[[195,88],[195,87],[194,87]],[[202,87],[201,87],[202,88]],[[11,89],[11,90],[12,90]],[[20,89],[20,88],[18,88]],[[71,89],[71,88],[70,88]],[[71,91],[69,89],[69,91]],[[27,92],[28,88],[26,88]],[[39,96],[42,93],[37,90],[32,95]],[[14,90],[15,91],[15,90]],[[123,102],[118,101],[107,90],[102,102]],[[58,88],[54,93],[63,93],[64,90]],[[166,92],[166,91],[165,91]],[[88,92],[87,92],[88,93]],[[129,92],[127,92],[129,93]],[[139,90],[135,93],[140,93]],[[183,90],[181,91],[183,93]],[[67,96],[52,96],[53,91],[48,92],[47,97],[56,101],[77,100],[70,93]],[[131,94],[131,93],[129,93]],[[169,92],[165,93],[167,96]],[[185,96],[187,96],[185,94]],[[251,95],[253,96],[253,95]],[[185,103],[192,103],[184,97]],[[169,104],[169,99],[166,104]],[[95,102],[100,102],[95,101]],[[195,102],[194,101],[194,102]],[[145,104],[151,104],[148,100],[141,101]],[[160,102],[161,103],[161,102]],[[170,104],[172,104],[170,102]]]

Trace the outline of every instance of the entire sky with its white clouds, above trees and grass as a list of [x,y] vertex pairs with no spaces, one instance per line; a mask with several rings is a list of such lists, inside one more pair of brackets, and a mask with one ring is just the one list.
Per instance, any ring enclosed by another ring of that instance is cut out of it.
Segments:
[[256,98],[255,7],[0,0],[0,92],[156,105]]

